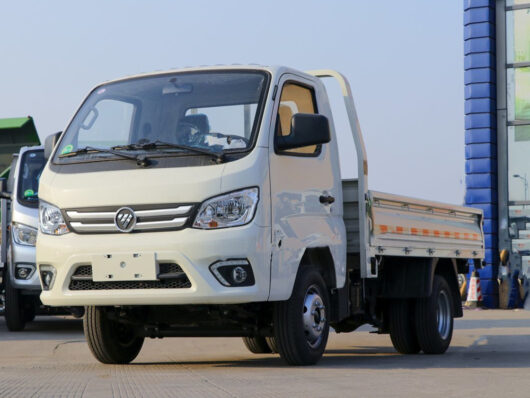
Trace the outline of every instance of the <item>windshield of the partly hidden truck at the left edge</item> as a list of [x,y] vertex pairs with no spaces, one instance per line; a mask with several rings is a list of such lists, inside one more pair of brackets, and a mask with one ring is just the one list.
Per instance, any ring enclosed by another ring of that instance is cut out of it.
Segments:
[[39,179],[46,164],[44,151],[27,151],[20,159],[18,171],[18,201],[30,207],[37,207],[39,203]]

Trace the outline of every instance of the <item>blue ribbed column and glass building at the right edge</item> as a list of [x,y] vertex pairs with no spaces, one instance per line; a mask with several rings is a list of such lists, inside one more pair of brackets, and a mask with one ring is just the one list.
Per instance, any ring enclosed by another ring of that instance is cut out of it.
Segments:
[[464,55],[466,204],[484,211],[479,274],[495,308],[498,278],[524,280],[530,264],[530,0],[464,0]]

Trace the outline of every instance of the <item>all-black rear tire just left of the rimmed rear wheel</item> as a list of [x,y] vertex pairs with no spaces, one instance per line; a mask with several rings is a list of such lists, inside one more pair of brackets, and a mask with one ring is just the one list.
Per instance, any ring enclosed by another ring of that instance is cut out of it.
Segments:
[[414,304],[410,299],[394,299],[388,304],[390,339],[401,354],[417,354],[421,350],[414,322]]

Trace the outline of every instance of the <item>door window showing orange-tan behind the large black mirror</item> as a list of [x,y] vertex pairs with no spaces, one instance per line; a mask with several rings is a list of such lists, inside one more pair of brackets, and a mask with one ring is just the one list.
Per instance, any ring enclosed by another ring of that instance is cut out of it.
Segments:
[[[291,134],[291,118],[296,113],[316,113],[313,90],[295,83],[286,83],[282,89],[280,106],[276,119],[276,135],[286,136]],[[305,156],[316,155],[319,145],[290,149],[282,153],[299,154]]]

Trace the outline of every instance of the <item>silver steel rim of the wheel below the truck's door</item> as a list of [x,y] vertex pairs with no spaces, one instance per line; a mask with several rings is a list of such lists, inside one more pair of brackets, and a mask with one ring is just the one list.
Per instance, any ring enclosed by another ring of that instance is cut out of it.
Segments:
[[322,342],[327,319],[324,300],[316,285],[311,285],[306,291],[302,306],[302,320],[307,343],[312,348],[318,347]]

